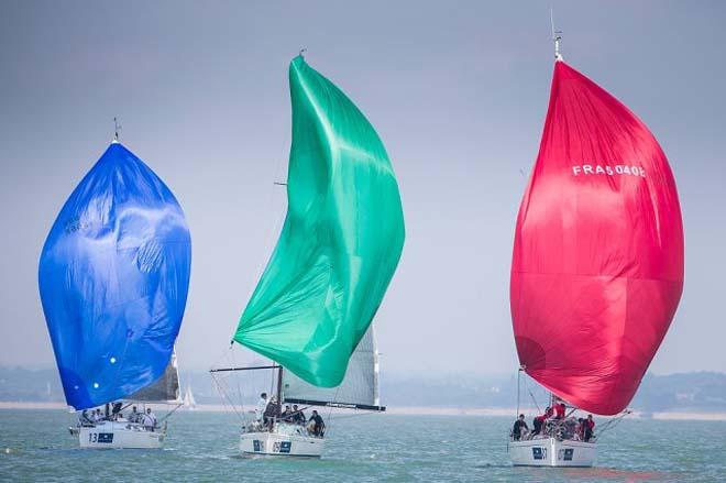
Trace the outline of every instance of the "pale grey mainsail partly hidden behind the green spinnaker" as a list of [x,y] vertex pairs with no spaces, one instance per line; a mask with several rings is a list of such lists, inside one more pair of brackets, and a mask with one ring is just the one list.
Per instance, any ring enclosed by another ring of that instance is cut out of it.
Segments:
[[338,387],[317,387],[289,371],[283,373],[286,403],[383,410],[378,400],[378,352],[373,325],[359,342]]

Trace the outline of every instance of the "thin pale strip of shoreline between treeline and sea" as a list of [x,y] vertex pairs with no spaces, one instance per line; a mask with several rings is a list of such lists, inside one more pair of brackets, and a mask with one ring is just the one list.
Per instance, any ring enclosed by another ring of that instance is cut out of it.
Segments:
[[[70,411],[69,407],[63,403],[44,402],[0,402],[0,410],[22,409],[22,410],[65,410]],[[189,409],[182,408],[184,413]],[[194,411],[197,413],[231,413],[230,406],[224,405],[198,405]],[[534,414],[529,410],[526,413]],[[501,407],[427,407],[427,406],[395,406],[388,407],[385,414],[403,416],[498,416],[514,417],[514,408]],[[660,419],[660,420],[694,420],[694,421],[726,421],[726,413],[710,411],[660,411],[642,413],[634,411],[630,416],[634,419]]]

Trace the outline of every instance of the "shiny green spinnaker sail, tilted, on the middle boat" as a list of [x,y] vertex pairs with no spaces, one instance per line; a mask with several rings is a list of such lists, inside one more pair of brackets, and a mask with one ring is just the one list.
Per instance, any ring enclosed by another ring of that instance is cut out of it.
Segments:
[[302,57],[289,68],[287,217],[234,340],[304,381],[334,387],[404,246],[386,150],[351,100]]

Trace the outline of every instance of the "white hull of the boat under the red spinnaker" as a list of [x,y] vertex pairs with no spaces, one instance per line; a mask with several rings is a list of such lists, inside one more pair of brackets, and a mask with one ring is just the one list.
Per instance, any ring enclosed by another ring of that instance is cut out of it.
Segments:
[[556,438],[509,442],[509,457],[515,466],[592,466],[595,464],[594,442]]

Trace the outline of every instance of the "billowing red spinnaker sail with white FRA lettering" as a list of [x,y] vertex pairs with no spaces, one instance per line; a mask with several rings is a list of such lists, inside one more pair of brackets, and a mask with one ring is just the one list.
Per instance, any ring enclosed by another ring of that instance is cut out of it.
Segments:
[[591,413],[623,410],[681,298],[681,208],[648,128],[561,61],[513,259],[526,372]]

